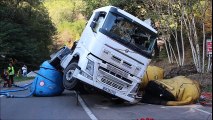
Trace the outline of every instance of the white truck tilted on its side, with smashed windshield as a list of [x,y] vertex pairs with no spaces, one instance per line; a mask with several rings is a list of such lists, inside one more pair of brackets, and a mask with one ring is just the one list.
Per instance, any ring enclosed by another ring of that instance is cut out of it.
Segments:
[[151,61],[157,31],[114,6],[94,10],[80,40],[51,56],[68,90],[89,84],[130,103],[138,102],[141,79]]

